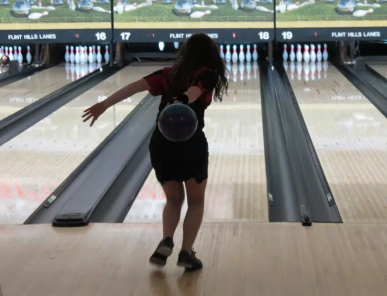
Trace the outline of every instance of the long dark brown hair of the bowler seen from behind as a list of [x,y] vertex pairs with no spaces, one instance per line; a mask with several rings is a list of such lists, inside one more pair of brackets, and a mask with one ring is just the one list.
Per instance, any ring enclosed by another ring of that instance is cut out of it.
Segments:
[[177,52],[176,62],[171,68],[172,81],[169,89],[171,94],[185,92],[194,75],[203,67],[210,68],[217,74],[214,100],[221,102],[228,88],[227,69],[220,57],[217,44],[202,33],[189,37]]

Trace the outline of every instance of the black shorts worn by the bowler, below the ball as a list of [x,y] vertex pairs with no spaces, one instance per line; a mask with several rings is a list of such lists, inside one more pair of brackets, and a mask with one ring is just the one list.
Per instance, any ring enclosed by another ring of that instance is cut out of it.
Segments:
[[202,130],[185,142],[168,141],[158,127],[150,140],[149,152],[157,180],[184,182],[194,178],[200,184],[208,178],[208,143]]

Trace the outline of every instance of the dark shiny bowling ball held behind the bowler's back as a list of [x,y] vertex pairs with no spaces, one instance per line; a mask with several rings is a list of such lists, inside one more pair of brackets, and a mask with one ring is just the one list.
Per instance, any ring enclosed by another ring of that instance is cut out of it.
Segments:
[[184,142],[191,138],[198,128],[198,117],[189,106],[175,103],[161,111],[158,125],[167,140]]

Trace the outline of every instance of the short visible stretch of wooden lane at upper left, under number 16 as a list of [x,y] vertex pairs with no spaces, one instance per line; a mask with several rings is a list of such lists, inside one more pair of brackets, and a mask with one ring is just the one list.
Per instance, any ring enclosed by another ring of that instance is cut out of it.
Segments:
[[75,75],[73,80],[67,79],[67,68],[69,66],[61,64],[1,87],[0,120],[81,77]]

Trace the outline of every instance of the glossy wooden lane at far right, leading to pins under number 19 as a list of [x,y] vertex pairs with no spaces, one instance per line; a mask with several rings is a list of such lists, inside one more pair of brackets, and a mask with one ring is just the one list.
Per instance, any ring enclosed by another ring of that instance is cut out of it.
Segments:
[[343,221],[385,223],[387,119],[328,66],[324,80],[291,79],[302,115]]

